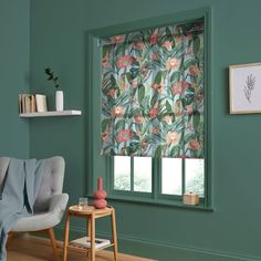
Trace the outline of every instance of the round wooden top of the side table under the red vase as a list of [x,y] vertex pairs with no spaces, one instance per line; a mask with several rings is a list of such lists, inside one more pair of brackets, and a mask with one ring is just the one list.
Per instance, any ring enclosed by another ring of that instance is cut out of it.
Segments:
[[93,206],[88,205],[85,207],[80,207],[79,205],[74,205],[69,207],[69,212],[77,216],[91,216],[91,215],[108,215],[113,210],[112,207],[106,207],[102,209],[94,208]]

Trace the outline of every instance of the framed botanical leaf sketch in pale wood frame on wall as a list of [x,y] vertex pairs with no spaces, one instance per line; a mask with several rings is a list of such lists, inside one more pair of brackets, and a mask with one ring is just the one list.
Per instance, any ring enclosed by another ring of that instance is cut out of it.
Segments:
[[261,63],[229,66],[230,114],[261,113]]

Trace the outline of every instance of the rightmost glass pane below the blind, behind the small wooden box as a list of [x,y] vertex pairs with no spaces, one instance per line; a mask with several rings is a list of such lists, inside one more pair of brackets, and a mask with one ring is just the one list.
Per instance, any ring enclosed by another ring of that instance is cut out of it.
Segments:
[[185,159],[186,192],[203,197],[203,159]]

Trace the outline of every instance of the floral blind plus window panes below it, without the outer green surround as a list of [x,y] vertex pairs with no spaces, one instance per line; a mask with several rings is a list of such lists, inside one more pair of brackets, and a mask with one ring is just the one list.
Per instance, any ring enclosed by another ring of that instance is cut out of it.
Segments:
[[205,197],[203,22],[101,39],[112,194]]

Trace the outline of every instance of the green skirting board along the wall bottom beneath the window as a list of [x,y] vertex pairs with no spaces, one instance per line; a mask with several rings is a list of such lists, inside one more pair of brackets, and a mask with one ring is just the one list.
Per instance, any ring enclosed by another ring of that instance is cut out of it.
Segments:
[[[63,240],[64,230],[55,229],[56,238]],[[81,229],[71,228],[72,238],[83,237]],[[98,238],[109,238],[111,234],[97,233]],[[165,242],[143,241],[118,234],[118,251],[126,254],[144,257],[158,261],[261,261],[260,258],[243,257],[234,253],[223,253],[207,249],[196,249],[184,246],[170,246]]]

